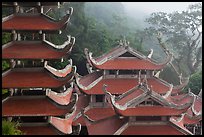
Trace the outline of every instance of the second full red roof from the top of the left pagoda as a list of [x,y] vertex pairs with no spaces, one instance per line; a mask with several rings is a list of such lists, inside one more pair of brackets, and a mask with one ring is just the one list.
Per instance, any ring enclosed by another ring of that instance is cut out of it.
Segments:
[[[67,56],[74,45],[70,40],[66,41],[64,44],[64,48],[57,49],[54,44],[50,44],[47,41],[12,41],[2,47],[2,58],[59,59]],[[60,45],[59,47],[63,47],[63,45]]]

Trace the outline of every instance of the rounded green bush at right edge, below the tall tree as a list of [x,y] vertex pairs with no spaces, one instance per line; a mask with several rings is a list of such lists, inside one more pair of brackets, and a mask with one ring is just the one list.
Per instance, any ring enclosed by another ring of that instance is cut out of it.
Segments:
[[200,89],[202,89],[202,71],[198,71],[191,75],[188,85],[185,87],[184,91],[191,89],[191,92],[198,95]]

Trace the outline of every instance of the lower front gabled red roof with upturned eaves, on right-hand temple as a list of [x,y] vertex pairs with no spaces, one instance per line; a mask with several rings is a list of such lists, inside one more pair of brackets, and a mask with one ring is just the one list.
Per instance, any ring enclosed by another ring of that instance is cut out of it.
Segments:
[[[137,93],[138,89],[139,93]],[[115,111],[123,116],[180,115],[193,103],[193,97],[190,95],[174,100],[170,95],[171,90],[168,91],[168,96],[162,96],[148,89],[146,85],[139,85],[117,97],[107,91],[106,86],[103,87],[103,90]],[[151,99],[157,104],[139,105],[147,99]]]

